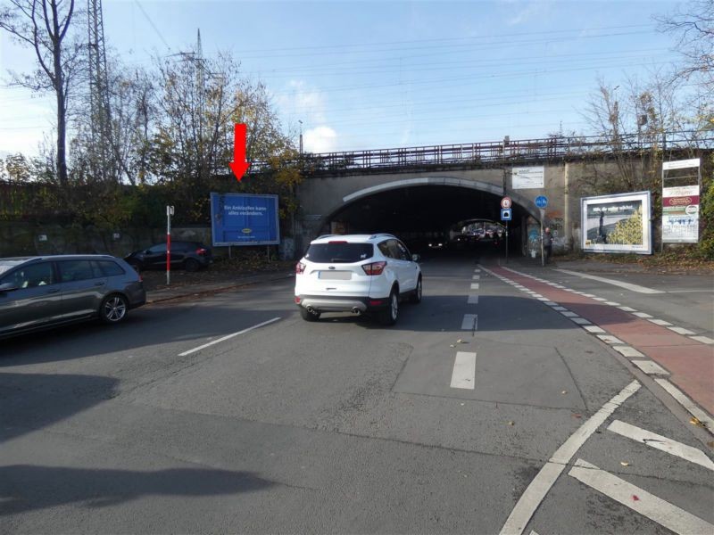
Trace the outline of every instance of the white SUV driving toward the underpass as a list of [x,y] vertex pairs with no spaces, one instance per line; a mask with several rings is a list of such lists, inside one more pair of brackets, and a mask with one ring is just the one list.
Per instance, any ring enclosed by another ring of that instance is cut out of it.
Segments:
[[394,325],[399,302],[421,301],[419,255],[393,235],[326,235],[295,266],[295,304],[306,321],[322,312],[375,313]]

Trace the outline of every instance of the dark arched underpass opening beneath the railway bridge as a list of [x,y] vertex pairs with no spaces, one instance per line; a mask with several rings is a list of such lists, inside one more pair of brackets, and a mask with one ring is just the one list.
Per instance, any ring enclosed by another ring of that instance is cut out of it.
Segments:
[[[519,255],[529,214],[515,202],[511,212],[509,254]],[[501,196],[452,185],[403,187],[361,197],[331,214],[322,231],[386,232],[398,236],[419,254],[475,249],[503,254],[506,246]]]

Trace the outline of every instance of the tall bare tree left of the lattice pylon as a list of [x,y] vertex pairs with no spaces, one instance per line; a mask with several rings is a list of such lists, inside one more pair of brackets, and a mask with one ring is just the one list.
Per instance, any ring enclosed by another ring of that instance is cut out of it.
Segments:
[[0,29],[35,51],[37,68],[14,82],[34,91],[54,91],[57,101],[56,167],[67,185],[67,108],[71,87],[83,69],[83,46],[68,38],[75,15],[74,0],[9,0],[0,12]]

